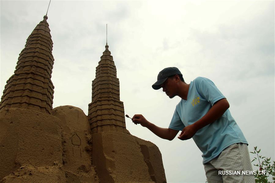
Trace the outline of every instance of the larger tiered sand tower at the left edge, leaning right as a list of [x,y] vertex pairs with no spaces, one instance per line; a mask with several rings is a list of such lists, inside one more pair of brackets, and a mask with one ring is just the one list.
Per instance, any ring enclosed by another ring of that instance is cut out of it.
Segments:
[[19,54],[14,75],[3,91],[0,110],[24,108],[52,114],[54,86],[50,78],[54,57],[47,19],[45,15]]

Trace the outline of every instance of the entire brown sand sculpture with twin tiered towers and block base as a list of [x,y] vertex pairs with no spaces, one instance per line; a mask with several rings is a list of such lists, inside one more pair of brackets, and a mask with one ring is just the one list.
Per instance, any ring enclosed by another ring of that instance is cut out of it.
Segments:
[[52,108],[54,64],[47,16],[19,55],[0,103],[0,182],[166,182],[156,145],[129,133],[106,43],[88,116]]

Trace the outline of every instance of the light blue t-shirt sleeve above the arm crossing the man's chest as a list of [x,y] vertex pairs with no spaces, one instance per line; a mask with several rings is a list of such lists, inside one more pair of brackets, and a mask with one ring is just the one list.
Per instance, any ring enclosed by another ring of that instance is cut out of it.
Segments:
[[207,78],[199,77],[199,93],[213,106],[215,102],[225,98],[217,86]]

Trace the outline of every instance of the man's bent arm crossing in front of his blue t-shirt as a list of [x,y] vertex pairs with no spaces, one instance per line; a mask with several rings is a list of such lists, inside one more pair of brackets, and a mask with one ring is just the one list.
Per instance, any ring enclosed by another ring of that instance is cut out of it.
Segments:
[[228,108],[229,108],[229,103],[226,100],[226,98],[223,98],[217,101],[206,113],[206,115],[204,115],[201,119],[199,119],[195,123],[189,126],[186,126],[181,131],[178,138],[180,140],[187,140],[192,138],[199,129],[219,119]]

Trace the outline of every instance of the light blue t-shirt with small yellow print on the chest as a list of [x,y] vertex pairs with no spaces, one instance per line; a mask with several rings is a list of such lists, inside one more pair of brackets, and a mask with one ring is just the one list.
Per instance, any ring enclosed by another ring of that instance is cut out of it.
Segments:
[[[222,98],[225,96],[210,79],[194,79],[190,83],[187,100],[181,99],[177,104],[169,128],[181,131],[201,119]],[[248,144],[229,109],[219,119],[198,130],[192,138],[203,153],[203,164],[217,157],[229,145]]]

